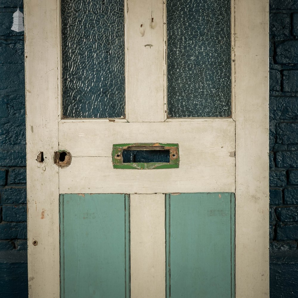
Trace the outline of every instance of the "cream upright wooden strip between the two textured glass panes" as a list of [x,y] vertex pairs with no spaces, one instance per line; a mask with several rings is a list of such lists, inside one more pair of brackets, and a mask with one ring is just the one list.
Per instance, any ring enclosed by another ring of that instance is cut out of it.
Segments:
[[125,1],[125,97],[129,122],[164,121],[163,0]]

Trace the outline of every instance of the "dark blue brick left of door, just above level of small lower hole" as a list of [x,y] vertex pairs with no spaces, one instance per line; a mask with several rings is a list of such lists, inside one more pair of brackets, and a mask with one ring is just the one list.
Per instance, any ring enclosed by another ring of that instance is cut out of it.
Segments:
[[27,239],[27,223],[6,223],[0,224],[0,239]]

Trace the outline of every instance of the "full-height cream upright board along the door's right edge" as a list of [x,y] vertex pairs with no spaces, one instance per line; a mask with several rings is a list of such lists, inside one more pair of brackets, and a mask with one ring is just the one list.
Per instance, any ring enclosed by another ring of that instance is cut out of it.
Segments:
[[268,298],[268,1],[235,4],[236,298]]

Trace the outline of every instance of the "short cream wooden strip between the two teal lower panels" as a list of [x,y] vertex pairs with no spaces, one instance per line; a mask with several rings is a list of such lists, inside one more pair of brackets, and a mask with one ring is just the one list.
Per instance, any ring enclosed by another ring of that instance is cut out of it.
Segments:
[[130,195],[131,298],[165,298],[164,194]]

